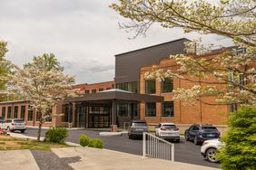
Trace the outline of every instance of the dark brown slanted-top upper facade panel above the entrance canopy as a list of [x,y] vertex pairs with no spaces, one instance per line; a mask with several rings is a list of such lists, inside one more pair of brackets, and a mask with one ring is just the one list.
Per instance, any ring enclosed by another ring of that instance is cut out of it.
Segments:
[[115,83],[139,81],[141,67],[157,64],[162,58],[167,58],[171,54],[185,53],[184,42],[187,41],[189,40],[182,38],[115,55]]

